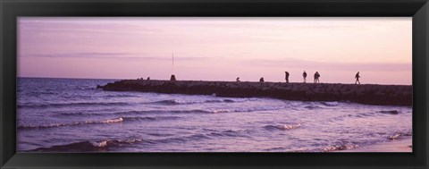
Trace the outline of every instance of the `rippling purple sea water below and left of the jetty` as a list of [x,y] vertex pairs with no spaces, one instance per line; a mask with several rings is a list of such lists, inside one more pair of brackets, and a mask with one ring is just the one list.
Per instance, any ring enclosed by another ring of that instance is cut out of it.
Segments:
[[96,89],[19,78],[18,152],[332,152],[412,136],[411,106]]

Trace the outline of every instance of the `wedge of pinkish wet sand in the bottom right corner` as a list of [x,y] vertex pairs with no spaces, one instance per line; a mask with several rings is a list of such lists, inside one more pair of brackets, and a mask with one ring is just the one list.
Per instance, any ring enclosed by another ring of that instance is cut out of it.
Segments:
[[412,153],[413,152],[413,139],[404,138],[391,140],[389,142],[377,143],[374,145],[368,145],[364,147],[351,148],[346,150],[340,150],[337,152],[400,152],[400,153]]

